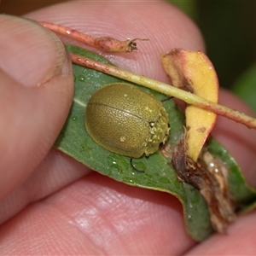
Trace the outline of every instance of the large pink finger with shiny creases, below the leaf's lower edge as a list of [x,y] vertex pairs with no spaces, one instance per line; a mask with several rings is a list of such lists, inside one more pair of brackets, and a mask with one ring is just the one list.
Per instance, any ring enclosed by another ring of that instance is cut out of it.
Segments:
[[92,173],[3,224],[1,253],[178,255],[193,244],[180,212],[166,193]]

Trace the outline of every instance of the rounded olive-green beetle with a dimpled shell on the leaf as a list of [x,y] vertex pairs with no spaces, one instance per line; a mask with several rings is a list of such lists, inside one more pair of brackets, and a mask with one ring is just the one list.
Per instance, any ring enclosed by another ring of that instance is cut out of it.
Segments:
[[157,151],[170,130],[162,102],[123,83],[96,90],[86,107],[85,127],[102,148],[131,158]]

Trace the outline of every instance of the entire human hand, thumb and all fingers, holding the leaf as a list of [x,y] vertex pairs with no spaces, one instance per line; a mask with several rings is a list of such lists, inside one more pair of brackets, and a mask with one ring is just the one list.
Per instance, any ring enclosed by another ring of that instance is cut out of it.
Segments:
[[[165,2],[107,2],[62,3],[26,17],[96,36],[150,38],[135,54],[106,55],[119,67],[166,83],[161,52],[204,49],[195,25]],[[256,252],[253,212],[231,224],[228,236],[196,244],[174,196],[117,183],[50,149],[72,103],[71,63],[43,27],[4,15],[0,24],[0,254]],[[226,91],[220,103],[253,114]],[[219,118],[213,135],[255,186],[256,132]]]

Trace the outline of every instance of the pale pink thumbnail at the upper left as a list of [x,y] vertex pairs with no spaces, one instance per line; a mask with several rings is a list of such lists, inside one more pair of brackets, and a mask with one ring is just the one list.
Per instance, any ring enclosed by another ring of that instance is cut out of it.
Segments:
[[66,50],[55,33],[9,15],[0,15],[0,24],[0,68],[13,79],[38,86],[68,73]]

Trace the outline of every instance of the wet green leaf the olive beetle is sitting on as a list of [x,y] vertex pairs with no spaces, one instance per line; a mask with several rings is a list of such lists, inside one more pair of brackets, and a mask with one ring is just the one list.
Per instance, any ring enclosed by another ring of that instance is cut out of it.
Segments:
[[[67,49],[75,54],[109,63],[102,56],[91,53],[90,51],[71,45],[67,45]],[[100,147],[90,138],[85,130],[84,112],[86,103],[92,93],[105,84],[120,82],[121,80],[78,65],[73,65],[73,73],[75,80],[73,106],[61,134],[55,142],[55,148],[59,148],[62,152],[72,156],[85,166],[89,166],[92,170],[112,177],[119,182],[146,189],[166,191],[177,196],[183,204],[183,215],[189,235],[196,241],[202,241],[207,238],[212,233],[207,204],[197,189],[188,183],[178,181],[170,160],[167,160],[160,152],[156,152],[148,158],[134,159],[133,165],[137,169],[145,171],[143,173],[136,172],[131,167],[130,158],[113,154]],[[140,88],[149,91],[148,89]],[[154,91],[150,91],[150,93],[160,99],[166,99],[166,96],[160,93]],[[172,145],[171,150],[173,150],[183,137],[184,115],[172,100],[165,101],[163,104],[169,114],[171,125],[169,143]],[[230,157],[221,145],[213,140],[209,148],[211,148],[212,154],[218,155],[227,163],[227,166],[230,167],[232,172],[235,170],[233,179],[237,179],[236,183],[239,183],[241,186],[243,195],[241,201],[247,201],[248,198],[250,198],[249,201],[252,201],[253,191],[244,189],[246,184],[243,177],[241,177],[239,167],[236,165],[235,160]],[[234,192],[236,193],[236,189],[234,189]]]

